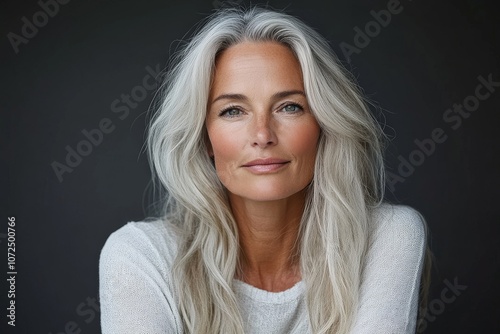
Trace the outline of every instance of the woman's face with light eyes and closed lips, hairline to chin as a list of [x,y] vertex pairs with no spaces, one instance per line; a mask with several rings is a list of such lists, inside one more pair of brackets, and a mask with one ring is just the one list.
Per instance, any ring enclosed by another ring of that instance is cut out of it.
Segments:
[[286,46],[244,42],[219,55],[206,127],[230,198],[284,199],[312,180],[320,128]]

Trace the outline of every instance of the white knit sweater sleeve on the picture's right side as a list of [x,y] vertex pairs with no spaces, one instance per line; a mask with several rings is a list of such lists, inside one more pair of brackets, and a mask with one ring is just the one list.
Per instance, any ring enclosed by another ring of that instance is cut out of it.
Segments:
[[374,214],[353,334],[413,334],[426,232],[422,216],[384,205]]

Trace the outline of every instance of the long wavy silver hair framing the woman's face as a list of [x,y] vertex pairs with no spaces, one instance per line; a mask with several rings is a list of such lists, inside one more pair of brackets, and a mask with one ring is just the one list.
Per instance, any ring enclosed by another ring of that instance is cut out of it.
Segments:
[[384,190],[383,134],[352,76],[302,21],[253,7],[223,9],[177,53],[148,136],[166,189],[165,219],[179,227],[173,270],[189,333],[243,333],[233,291],[238,230],[207,150],[205,117],[218,54],[244,42],[289,47],[321,133],[299,233],[299,261],[314,333],[348,333],[356,316],[368,221]]

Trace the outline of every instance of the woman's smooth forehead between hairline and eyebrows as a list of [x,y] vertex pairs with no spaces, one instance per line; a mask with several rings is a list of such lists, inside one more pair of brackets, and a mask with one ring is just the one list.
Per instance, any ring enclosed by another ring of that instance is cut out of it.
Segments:
[[217,57],[212,93],[269,85],[303,89],[300,63],[289,47],[277,42],[243,42]]

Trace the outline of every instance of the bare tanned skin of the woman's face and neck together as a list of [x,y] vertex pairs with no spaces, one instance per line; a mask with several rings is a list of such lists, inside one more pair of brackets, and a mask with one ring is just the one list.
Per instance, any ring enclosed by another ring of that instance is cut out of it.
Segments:
[[[301,279],[293,254],[320,134],[304,92],[298,60],[279,43],[243,42],[217,58],[208,153],[238,224],[237,278],[267,291]],[[249,167],[265,158],[281,162]]]

